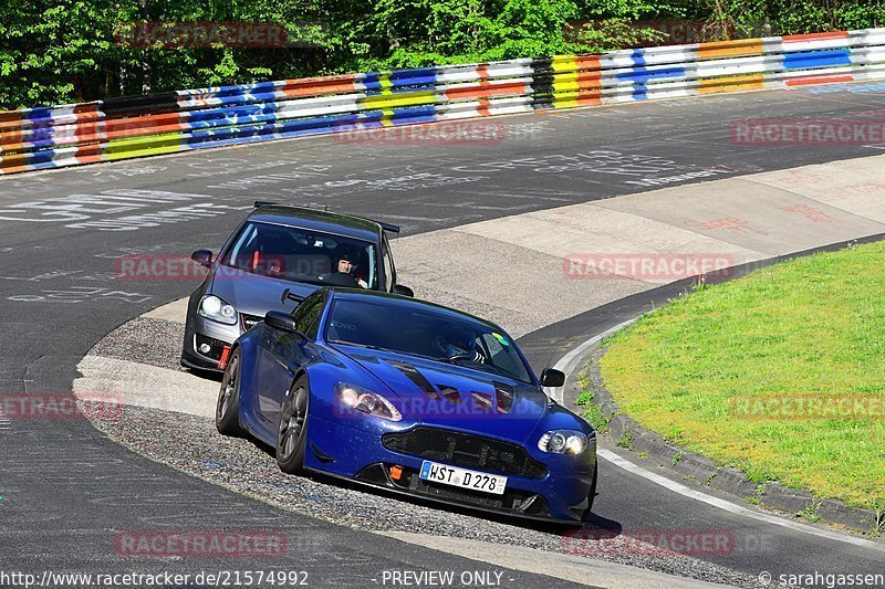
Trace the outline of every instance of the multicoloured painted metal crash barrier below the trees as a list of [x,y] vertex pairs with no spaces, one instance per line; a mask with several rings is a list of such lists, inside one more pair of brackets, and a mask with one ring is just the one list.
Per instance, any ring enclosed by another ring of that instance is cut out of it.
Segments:
[[0,112],[0,173],[301,135],[885,78],[885,29],[185,90]]

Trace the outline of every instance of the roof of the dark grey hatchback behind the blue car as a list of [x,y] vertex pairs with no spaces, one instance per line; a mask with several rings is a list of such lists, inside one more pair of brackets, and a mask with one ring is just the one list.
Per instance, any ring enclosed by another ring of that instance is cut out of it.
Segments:
[[372,242],[378,242],[383,231],[381,223],[361,217],[285,204],[257,207],[248,219],[249,221],[312,229]]

